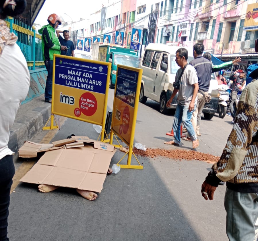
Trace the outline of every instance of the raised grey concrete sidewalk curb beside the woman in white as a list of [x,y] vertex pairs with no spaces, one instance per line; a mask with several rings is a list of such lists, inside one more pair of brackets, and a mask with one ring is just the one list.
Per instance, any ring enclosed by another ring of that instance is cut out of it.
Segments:
[[44,94],[23,104],[18,109],[13,126],[10,129],[8,147],[18,158],[18,149],[24,141],[31,139],[46,124],[51,115],[51,104],[44,101]]

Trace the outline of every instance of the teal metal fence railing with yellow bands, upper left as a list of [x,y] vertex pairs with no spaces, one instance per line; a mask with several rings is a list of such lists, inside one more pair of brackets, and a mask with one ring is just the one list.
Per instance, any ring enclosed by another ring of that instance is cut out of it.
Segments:
[[17,44],[27,61],[28,69],[35,70],[36,67],[45,67],[42,56],[41,35],[35,27],[30,27],[28,24],[11,17],[7,17],[6,23],[10,31],[18,36]]

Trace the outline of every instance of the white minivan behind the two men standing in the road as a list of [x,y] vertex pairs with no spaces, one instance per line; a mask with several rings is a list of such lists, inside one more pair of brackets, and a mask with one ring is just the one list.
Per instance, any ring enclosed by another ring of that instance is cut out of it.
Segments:
[[[174,87],[176,71],[179,66],[176,64],[176,50],[179,46],[168,46],[166,44],[148,44],[143,57],[141,58],[139,68],[143,69],[141,90],[139,101],[145,103],[147,98],[160,104],[160,112],[166,113],[168,109],[175,109],[177,105],[177,95],[172,100],[169,108],[166,102],[170,98]],[[188,63],[193,60],[193,49],[188,50]],[[214,86],[215,85],[215,86]],[[218,90],[218,82],[215,74],[212,74],[212,83],[210,90]],[[218,108],[218,97],[212,97],[211,102],[203,108],[207,119],[211,119]],[[205,117],[205,118],[206,118]]]

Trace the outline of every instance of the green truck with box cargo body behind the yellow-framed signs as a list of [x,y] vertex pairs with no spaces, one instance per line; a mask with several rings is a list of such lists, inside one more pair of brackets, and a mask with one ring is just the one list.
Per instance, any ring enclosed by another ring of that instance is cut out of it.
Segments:
[[139,67],[138,51],[115,44],[92,44],[92,59],[104,62],[110,62],[111,75],[109,79],[109,88],[114,88],[116,83],[117,65],[130,67]]

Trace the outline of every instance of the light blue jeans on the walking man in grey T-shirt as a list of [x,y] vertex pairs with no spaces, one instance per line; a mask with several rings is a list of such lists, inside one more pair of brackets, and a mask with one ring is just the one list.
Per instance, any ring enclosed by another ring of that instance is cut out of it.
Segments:
[[[194,110],[195,109],[196,109],[196,105],[194,106]],[[176,112],[174,114],[174,119],[173,119],[173,132],[174,132],[175,143],[180,144],[180,141],[181,141],[180,125],[182,122],[188,132],[190,139],[192,141],[197,140],[197,137],[195,135],[195,130],[193,129],[193,125],[191,123],[191,118],[194,110],[189,111],[189,105],[182,106],[180,104],[177,104]]]

